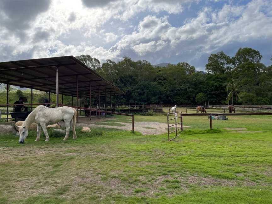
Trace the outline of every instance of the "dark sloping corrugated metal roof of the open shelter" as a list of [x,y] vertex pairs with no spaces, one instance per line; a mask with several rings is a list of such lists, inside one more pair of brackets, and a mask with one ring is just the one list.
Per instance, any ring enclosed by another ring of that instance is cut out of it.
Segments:
[[56,93],[56,68],[59,75],[59,94],[76,96],[76,77],[79,97],[123,95],[112,83],[89,69],[74,56],[26,59],[0,63],[0,82],[40,91]]

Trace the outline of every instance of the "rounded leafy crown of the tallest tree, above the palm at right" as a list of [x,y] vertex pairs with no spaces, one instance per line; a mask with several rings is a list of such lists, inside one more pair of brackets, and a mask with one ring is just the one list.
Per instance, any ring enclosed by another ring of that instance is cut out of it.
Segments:
[[233,57],[233,61],[237,66],[247,62],[259,63],[262,58],[263,56],[258,50],[254,50],[252,48],[239,48]]

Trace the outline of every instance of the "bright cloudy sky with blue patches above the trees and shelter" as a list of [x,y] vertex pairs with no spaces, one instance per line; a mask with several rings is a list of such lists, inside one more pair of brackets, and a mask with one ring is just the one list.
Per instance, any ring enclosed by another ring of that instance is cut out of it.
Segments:
[[151,64],[250,47],[272,61],[272,0],[1,0],[0,61],[89,54]]

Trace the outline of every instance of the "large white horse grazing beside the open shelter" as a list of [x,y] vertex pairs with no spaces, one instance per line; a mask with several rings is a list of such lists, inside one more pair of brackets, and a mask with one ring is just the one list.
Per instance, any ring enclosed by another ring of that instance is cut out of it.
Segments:
[[66,127],[66,135],[64,141],[68,138],[70,128],[73,131],[73,139],[76,139],[76,109],[63,106],[60,108],[48,108],[44,105],[39,105],[33,110],[25,119],[22,126],[19,127],[20,143],[24,143],[25,138],[28,136],[28,127],[35,122],[37,124],[37,138],[35,141],[39,141],[41,134],[41,127],[45,134],[45,141],[49,141],[49,136],[46,130],[46,124],[57,123],[64,121]]

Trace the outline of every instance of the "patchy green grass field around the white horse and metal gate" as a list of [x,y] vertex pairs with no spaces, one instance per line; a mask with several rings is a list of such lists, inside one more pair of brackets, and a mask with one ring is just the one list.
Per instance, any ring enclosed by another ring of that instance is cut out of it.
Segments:
[[0,203],[272,203],[272,116],[228,118],[202,133],[207,116],[184,116],[190,127],[172,142],[105,128],[47,143],[31,131],[23,145],[2,135]]

